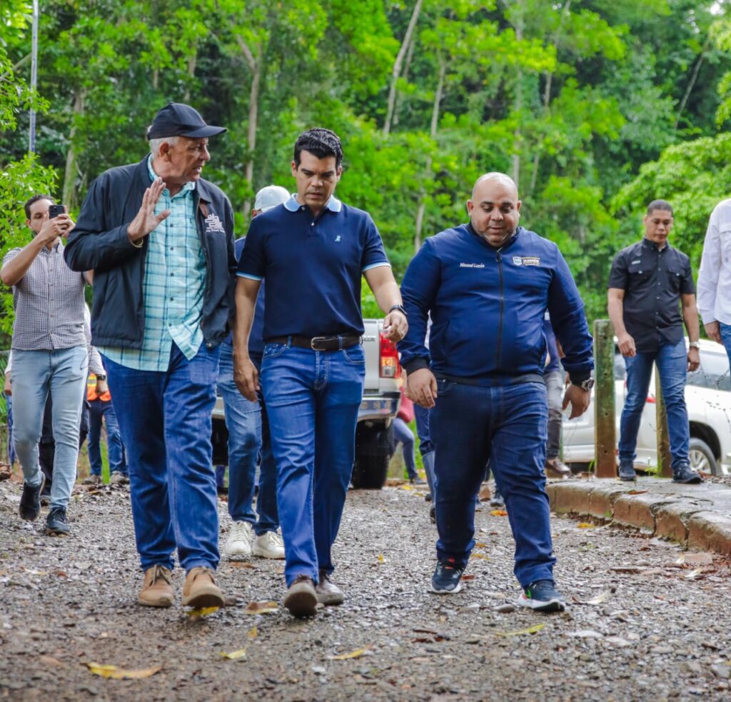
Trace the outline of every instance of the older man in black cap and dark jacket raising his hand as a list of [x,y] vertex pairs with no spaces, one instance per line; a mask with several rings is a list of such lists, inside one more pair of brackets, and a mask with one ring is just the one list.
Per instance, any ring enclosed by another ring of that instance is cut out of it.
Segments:
[[201,172],[208,137],[224,131],[188,105],[163,107],[151,154],[91,184],[66,249],[72,269],[94,269],[91,333],[128,453],[138,602],[153,607],[173,604],[176,548],[182,604],[223,604],[211,410],[236,257],[231,203]]

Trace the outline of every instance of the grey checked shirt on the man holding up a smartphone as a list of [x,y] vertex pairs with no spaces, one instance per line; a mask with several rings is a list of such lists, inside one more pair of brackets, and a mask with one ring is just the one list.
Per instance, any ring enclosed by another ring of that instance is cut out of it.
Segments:
[[[23,249],[11,249],[3,265]],[[12,348],[20,351],[69,349],[86,346],[84,335],[83,273],[64,261],[64,245],[44,246],[26,274],[12,289],[15,322]]]

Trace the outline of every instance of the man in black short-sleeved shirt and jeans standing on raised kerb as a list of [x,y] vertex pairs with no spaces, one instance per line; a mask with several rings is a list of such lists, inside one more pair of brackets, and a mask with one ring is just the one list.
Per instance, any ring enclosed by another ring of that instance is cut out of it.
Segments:
[[[609,279],[608,309],[627,369],[627,398],[619,439],[619,478],[634,480],[637,431],[647,400],[653,363],[667,407],[673,482],[700,483],[690,467],[685,404],[686,371],[700,363],[698,311],[690,259],[667,243],[673,208],[665,200],[648,205],[645,238],[619,252]],[[678,309],[682,304],[683,317]],[[690,348],[683,339],[685,322]]]

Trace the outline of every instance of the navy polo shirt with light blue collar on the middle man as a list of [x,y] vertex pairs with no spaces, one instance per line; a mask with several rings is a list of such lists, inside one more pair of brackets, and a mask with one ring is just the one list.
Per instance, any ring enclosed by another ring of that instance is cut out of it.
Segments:
[[390,265],[371,216],[330,197],[315,217],[295,195],[249,224],[237,275],[266,280],[264,339],[362,334],[361,276]]

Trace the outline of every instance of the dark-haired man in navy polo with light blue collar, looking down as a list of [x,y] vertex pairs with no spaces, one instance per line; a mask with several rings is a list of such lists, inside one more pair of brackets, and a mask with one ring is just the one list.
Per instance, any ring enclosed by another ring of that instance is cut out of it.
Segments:
[[235,381],[253,401],[260,374],[249,358],[254,303],[266,280],[261,384],[277,464],[287,595],[295,616],[336,605],[330,549],[338,534],[353,461],[366,359],[360,336],[360,279],[387,312],[389,339],[408,325],[381,237],[371,217],[333,192],[343,150],[329,129],[295,143],[297,195],[251,221],[238,266]]

